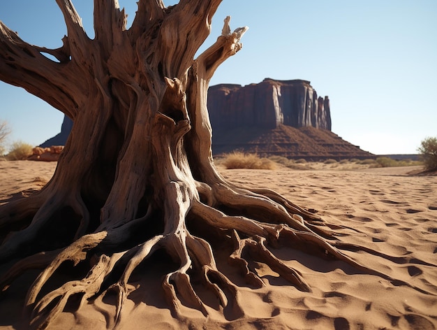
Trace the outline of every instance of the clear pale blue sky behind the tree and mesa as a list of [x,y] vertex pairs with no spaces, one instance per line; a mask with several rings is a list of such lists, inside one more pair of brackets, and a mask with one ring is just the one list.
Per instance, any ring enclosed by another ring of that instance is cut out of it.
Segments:
[[[119,0],[129,22],[136,1]],[[73,3],[92,38],[92,1]],[[310,80],[329,96],[332,131],[377,155],[414,154],[425,137],[437,136],[436,0],[223,0],[205,48],[226,15],[231,29],[249,31],[211,85]],[[1,0],[0,20],[47,48],[61,46],[66,34],[54,0]],[[59,133],[64,115],[24,89],[0,82],[0,98],[11,142],[38,145]]]

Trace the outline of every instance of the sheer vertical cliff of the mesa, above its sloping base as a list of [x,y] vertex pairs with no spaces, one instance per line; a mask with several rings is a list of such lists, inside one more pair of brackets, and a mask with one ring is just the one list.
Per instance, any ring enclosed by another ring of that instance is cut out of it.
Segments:
[[331,130],[329,99],[318,97],[306,80],[209,87],[208,109],[214,129],[315,127]]

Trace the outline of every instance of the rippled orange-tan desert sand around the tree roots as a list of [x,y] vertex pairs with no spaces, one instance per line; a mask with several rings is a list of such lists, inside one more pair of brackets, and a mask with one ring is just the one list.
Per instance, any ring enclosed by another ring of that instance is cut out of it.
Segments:
[[[56,163],[0,162],[0,203],[30,194],[50,180]],[[165,263],[147,264],[134,273],[138,286],[122,314],[122,329],[436,329],[437,328],[437,177],[412,176],[417,168],[368,168],[355,171],[225,170],[241,185],[269,187],[291,201],[313,208],[330,224],[346,225],[341,240],[391,257],[346,252],[362,264],[417,287],[393,285],[359,273],[339,261],[325,261],[286,247],[272,249],[300,271],[313,292],[300,292],[261,263],[255,263],[265,287],[251,289],[218,252],[218,266],[239,285],[245,316],[229,320],[214,310],[208,318],[182,308],[172,318],[161,294]],[[223,254],[223,255],[222,255]],[[399,262],[397,257],[409,257]],[[5,267],[0,271],[5,271]],[[0,296],[0,329],[26,329],[20,303],[36,273],[20,277]],[[50,329],[105,329],[112,324],[111,297],[67,310]]]

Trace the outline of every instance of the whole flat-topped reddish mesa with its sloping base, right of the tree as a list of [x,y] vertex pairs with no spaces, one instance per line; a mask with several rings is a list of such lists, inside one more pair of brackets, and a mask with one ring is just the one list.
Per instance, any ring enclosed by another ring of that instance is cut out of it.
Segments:
[[209,87],[214,155],[238,150],[304,159],[371,158],[331,131],[327,96],[307,80]]

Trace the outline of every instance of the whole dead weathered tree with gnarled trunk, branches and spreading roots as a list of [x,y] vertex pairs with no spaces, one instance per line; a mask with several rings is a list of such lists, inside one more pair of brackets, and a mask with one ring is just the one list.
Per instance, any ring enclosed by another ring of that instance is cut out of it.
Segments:
[[[242,316],[237,287],[216,267],[212,233],[234,246],[230,261],[255,286],[263,282],[245,250],[298,289],[310,290],[267,248],[280,238],[377,274],[340,252],[337,247],[358,247],[341,245],[318,216],[267,189],[232,185],[216,171],[207,89],[216,68],[239,51],[246,31],[231,32],[225,20],[222,36],[194,59],[221,0],[183,0],[169,8],[161,0],[140,0],[130,29],[117,2],[95,1],[91,40],[71,1],[57,0],[68,30],[57,50],[29,45],[0,22],[0,79],[74,122],[52,180],[0,209],[0,259],[20,258],[1,279],[2,289],[28,268],[43,268],[26,299],[31,325],[47,327],[73,294],[82,294],[84,303],[108,290],[119,295],[119,324],[131,273],[158,249],[179,264],[163,281],[174,315],[180,303],[207,315],[191,285],[195,273],[223,308]],[[89,273],[41,296],[68,260],[89,260]],[[120,267],[118,280],[103,285]]]

